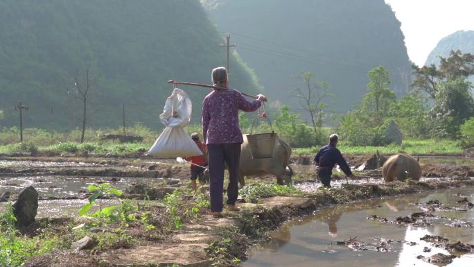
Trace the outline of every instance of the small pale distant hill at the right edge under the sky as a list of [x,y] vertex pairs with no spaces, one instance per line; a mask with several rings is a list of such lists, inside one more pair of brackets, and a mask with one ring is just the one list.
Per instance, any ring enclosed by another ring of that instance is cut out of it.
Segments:
[[474,31],[457,31],[441,39],[426,58],[425,65],[439,64],[439,56],[447,58],[451,50],[474,53]]

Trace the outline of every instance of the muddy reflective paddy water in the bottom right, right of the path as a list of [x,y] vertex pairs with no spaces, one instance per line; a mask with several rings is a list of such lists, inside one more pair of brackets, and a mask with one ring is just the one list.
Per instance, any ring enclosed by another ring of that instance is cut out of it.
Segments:
[[[419,193],[388,200],[367,200],[323,209],[314,216],[286,223],[271,234],[271,241],[257,246],[246,267],[263,266],[435,266],[422,259],[443,253],[455,255],[450,264],[439,266],[473,266],[474,254],[449,252],[437,243],[420,240],[426,234],[443,236],[448,243],[457,241],[474,244],[474,228],[450,225],[453,218],[474,223],[474,210],[457,201],[466,198],[474,202],[474,189],[450,189],[436,193]],[[439,200],[442,207],[464,209],[436,209],[435,217],[426,218],[425,226],[396,224],[396,218],[423,212],[422,205]],[[383,220],[368,220],[376,214]],[[455,220],[455,221],[456,221]],[[367,245],[367,250],[353,250],[354,246],[337,245],[337,241],[355,239]]]

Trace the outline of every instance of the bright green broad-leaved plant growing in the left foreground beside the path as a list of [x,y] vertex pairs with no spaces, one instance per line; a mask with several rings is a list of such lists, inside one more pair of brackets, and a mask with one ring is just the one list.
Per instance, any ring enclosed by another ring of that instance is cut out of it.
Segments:
[[[117,216],[114,213],[114,210],[116,210],[118,207],[117,206],[109,206],[105,207],[112,198],[116,198],[122,195],[122,191],[115,189],[112,187],[110,184],[90,184],[89,185],[89,192],[92,193],[91,196],[89,196],[88,200],[89,203],[83,205],[79,209],[79,214],[81,216],[91,216],[98,218],[99,224],[103,223],[103,218],[107,218],[111,221],[116,220]],[[103,200],[103,198],[108,198],[107,200]],[[98,206],[98,211],[94,212],[92,214],[88,214],[89,209],[91,207],[94,207],[94,205]]]

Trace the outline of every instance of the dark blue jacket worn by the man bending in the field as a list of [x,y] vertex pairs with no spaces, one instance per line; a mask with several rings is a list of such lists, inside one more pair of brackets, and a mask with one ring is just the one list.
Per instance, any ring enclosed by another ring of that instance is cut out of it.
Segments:
[[351,168],[347,165],[341,152],[332,144],[328,144],[319,149],[314,160],[317,166],[319,166],[319,173],[331,173],[337,163],[346,175],[352,174]]

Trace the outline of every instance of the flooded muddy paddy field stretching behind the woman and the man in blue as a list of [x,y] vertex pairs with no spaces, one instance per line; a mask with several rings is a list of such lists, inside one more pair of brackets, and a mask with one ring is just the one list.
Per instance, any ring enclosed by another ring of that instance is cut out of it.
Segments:
[[[369,156],[348,156],[353,169],[358,169]],[[311,164],[312,155],[294,155],[291,168],[293,181],[298,189],[314,191],[321,186]],[[474,176],[474,160],[470,157],[422,157],[423,178],[421,181],[450,180]],[[343,173],[335,169],[333,186],[341,184],[384,184],[377,170],[358,171],[371,178],[347,180]],[[10,157],[0,160],[0,202],[15,200],[21,189],[35,187],[40,193],[40,217],[73,216],[74,210],[84,205],[89,197],[89,184],[106,182],[123,191],[134,186],[147,184],[162,188],[157,191],[159,199],[164,193],[189,186],[189,166],[175,160],[152,158],[91,158],[91,157]],[[249,183],[248,183],[249,182]],[[272,183],[275,178],[267,175],[247,178],[247,184]],[[140,192],[131,192],[130,198],[137,198]],[[126,196],[126,195],[125,195]],[[68,201],[62,201],[68,200]],[[74,201],[72,201],[74,200]],[[64,214],[62,214],[64,207]],[[0,204],[0,211],[2,205]]]

